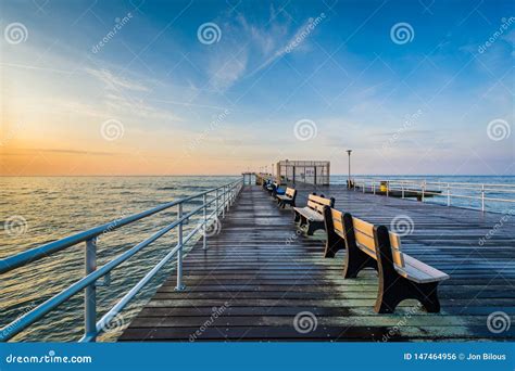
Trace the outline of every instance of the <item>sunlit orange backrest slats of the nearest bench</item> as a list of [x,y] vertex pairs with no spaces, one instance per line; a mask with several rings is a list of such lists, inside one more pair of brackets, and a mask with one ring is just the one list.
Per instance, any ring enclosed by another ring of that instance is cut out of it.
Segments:
[[[374,239],[374,225],[354,217],[352,218],[352,225],[354,226],[354,236],[356,244],[362,247],[366,254],[377,260],[376,241]],[[395,266],[402,268],[404,267],[404,256],[401,251],[401,238],[399,234],[393,232],[388,232],[388,234],[390,236],[393,263]]]

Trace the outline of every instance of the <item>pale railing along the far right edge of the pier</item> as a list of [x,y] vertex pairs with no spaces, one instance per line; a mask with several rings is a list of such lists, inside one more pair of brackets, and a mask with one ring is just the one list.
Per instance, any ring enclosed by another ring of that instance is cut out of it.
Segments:
[[[442,182],[427,180],[406,180],[379,178],[353,179],[354,190],[374,194],[391,195],[392,192],[401,199],[416,195],[422,202],[429,197],[444,197],[448,206],[453,199],[478,201],[485,212],[489,202],[513,204],[515,207],[515,184]],[[501,195],[501,196],[500,196]]]

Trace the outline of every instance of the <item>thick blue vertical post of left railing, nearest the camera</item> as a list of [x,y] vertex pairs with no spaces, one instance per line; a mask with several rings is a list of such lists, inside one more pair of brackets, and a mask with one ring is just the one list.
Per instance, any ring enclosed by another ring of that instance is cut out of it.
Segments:
[[[97,238],[86,241],[86,276],[97,270]],[[91,342],[97,341],[97,287],[96,282],[86,287],[84,295],[84,334]]]

